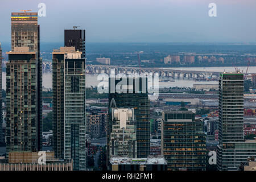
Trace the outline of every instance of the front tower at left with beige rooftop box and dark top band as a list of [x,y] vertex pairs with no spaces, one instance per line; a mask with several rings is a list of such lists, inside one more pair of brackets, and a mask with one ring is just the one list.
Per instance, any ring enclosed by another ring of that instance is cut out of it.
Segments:
[[37,55],[28,47],[7,52],[6,153],[40,150]]

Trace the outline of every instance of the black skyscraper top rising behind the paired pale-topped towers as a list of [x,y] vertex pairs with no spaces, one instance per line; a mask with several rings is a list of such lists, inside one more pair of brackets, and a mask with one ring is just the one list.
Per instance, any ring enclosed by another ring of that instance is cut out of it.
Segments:
[[85,30],[65,30],[65,47],[75,47],[85,58]]

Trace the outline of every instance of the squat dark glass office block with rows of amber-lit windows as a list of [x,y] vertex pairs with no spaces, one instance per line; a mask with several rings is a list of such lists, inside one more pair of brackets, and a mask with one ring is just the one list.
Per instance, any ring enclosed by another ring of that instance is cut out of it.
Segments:
[[161,154],[170,171],[205,171],[204,122],[192,111],[163,111]]

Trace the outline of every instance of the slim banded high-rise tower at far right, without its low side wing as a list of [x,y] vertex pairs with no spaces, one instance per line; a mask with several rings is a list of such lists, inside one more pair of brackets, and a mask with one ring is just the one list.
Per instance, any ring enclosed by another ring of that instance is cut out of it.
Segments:
[[221,73],[218,94],[219,170],[234,167],[228,155],[230,148],[233,148],[234,142],[244,141],[243,90],[243,73]]

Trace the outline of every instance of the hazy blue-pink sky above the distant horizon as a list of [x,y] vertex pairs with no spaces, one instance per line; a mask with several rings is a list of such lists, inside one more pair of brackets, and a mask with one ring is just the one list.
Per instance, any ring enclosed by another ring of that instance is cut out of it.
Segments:
[[256,0],[0,0],[0,42],[10,42],[11,12],[40,2],[42,42],[64,42],[74,25],[87,42],[256,42]]

